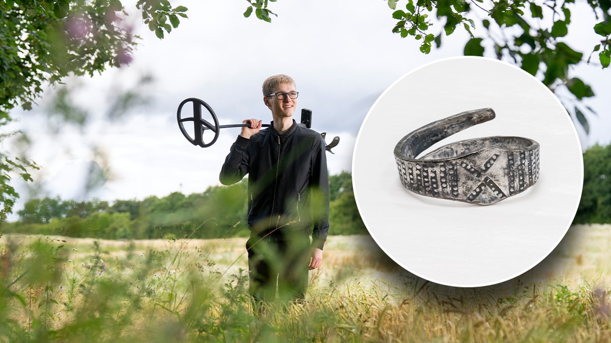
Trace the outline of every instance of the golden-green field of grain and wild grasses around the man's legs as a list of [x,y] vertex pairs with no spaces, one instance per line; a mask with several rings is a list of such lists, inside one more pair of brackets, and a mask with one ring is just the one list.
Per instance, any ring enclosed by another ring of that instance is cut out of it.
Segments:
[[305,306],[252,316],[246,239],[0,238],[0,341],[611,341],[611,226],[572,226],[524,275],[429,283],[329,237]]

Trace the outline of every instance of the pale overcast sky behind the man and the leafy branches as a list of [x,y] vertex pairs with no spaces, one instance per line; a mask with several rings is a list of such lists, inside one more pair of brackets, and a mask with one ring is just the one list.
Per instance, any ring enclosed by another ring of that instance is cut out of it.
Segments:
[[[131,11],[133,5],[123,4]],[[331,174],[350,171],[360,123],[378,96],[423,63],[461,56],[468,39],[457,29],[444,39],[442,49],[421,54],[412,38],[392,34],[395,20],[386,1],[279,1],[270,3],[279,14],[271,24],[244,18],[245,1],[173,4],[186,5],[189,19],[182,20],[164,40],[148,32],[138,15],[130,17],[134,31],[143,38],[131,65],[90,79],[68,81],[78,85],[73,96],[89,111],[87,125],[51,132],[45,112],[53,90],[43,94],[35,109],[12,112],[20,121],[11,128],[27,132],[29,157],[42,167],[35,173],[33,189],[15,182],[22,194],[16,209],[29,195],[111,201],[163,197],[175,191],[203,192],[219,184],[222,162],[240,130],[223,130],[210,148],[192,146],[178,129],[178,104],[189,97],[203,99],[213,107],[221,124],[252,117],[268,122],[271,115],[263,105],[261,84],[277,73],[296,80],[300,92],[296,119],[299,121],[299,109],[312,109],[313,129],[327,132],[327,137],[341,137],[335,154],[327,154]],[[594,18],[588,10],[573,13],[572,18],[576,31],[567,39],[580,51],[589,52],[596,44],[591,28]],[[599,95],[587,101],[599,112],[598,117],[589,118],[590,135],[577,128],[582,146],[607,144],[611,140],[611,113],[608,98],[600,95],[611,92],[610,71],[601,71],[596,65],[583,65],[575,71],[591,82]],[[143,74],[153,77],[152,84],[141,88],[147,97],[145,104],[109,121],[112,95],[134,87]],[[405,106],[408,111],[409,104]],[[406,133],[412,129],[406,125]],[[94,156],[95,149],[101,154]],[[108,167],[109,179],[87,191],[86,175],[92,159]]]

